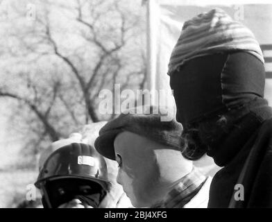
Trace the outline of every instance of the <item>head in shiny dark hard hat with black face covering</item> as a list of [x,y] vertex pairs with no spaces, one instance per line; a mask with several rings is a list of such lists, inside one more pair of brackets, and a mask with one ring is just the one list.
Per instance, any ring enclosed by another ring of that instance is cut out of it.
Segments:
[[48,157],[35,185],[45,208],[97,208],[110,182],[103,157],[92,146],[72,143]]

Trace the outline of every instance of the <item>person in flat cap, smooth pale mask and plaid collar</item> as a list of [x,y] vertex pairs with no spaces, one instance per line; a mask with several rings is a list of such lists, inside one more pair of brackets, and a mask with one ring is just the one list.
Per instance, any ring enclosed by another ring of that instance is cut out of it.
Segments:
[[173,118],[162,121],[163,108],[141,109],[108,122],[94,144],[101,155],[118,162],[117,182],[133,206],[207,207],[211,178],[182,157],[181,124]]

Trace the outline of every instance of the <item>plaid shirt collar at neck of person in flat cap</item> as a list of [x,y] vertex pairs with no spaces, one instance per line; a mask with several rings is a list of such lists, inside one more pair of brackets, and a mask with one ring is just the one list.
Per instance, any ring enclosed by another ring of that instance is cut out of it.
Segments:
[[176,185],[169,191],[162,202],[153,205],[151,208],[182,208],[186,205],[201,189],[206,176],[193,169],[190,173],[180,178]]

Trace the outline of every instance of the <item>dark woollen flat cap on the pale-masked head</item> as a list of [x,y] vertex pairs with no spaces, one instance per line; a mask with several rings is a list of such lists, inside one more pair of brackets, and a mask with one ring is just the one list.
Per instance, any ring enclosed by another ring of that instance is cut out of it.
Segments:
[[96,150],[104,157],[115,160],[114,139],[124,131],[182,150],[182,125],[176,121],[173,110],[169,108],[142,106],[121,113],[101,128],[94,142]]

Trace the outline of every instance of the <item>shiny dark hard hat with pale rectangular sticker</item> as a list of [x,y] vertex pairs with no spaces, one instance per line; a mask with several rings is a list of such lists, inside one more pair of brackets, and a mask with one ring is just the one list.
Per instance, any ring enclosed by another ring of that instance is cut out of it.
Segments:
[[58,196],[56,188],[61,188],[58,190],[60,194],[61,192],[84,194],[86,190],[78,190],[79,187],[86,187],[83,185],[87,185],[89,190],[110,189],[104,157],[92,146],[81,143],[72,143],[51,153],[35,182],[35,186],[44,192],[47,203],[52,202],[49,199]]

